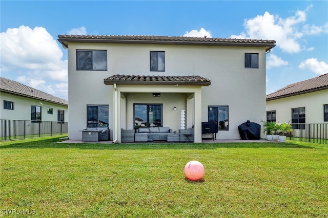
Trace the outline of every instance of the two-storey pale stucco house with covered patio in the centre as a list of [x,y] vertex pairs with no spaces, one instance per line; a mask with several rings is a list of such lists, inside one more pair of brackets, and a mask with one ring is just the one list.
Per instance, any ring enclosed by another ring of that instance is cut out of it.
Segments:
[[[238,125],[265,119],[265,56],[274,40],[58,35],[68,49],[69,138],[106,126],[194,128],[221,121],[218,139],[240,139]],[[149,75],[149,76],[148,76]]]

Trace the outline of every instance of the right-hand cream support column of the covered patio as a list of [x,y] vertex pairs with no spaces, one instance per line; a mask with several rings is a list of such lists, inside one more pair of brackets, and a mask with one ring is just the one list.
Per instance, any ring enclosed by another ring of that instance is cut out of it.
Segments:
[[194,93],[194,143],[201,143],[201,87]]

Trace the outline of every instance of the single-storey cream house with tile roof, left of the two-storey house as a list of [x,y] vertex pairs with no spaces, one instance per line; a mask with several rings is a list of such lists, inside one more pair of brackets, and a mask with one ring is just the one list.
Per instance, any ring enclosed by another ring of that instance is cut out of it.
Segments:
[[68,101],[1,77],[2,120],[68,121]]

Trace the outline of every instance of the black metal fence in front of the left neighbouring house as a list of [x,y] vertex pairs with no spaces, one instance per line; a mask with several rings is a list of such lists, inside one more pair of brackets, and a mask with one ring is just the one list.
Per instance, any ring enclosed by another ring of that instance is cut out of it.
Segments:
[[66,135],[67,122],[0,120],[0,141]]

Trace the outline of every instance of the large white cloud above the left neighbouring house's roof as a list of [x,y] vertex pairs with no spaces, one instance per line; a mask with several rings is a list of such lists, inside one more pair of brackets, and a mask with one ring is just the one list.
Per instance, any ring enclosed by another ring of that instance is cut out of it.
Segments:
[[56,94],[51,84],[67,83],[67,60],[62,57],[57,41],[43,27],[20,26],[1,33],[1,71],[23,72],[15,80],[40,91]]

